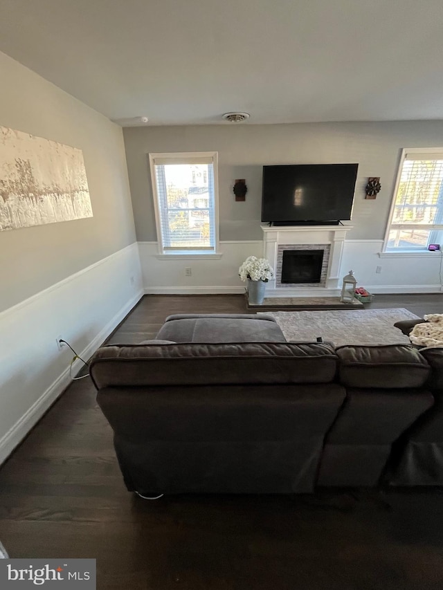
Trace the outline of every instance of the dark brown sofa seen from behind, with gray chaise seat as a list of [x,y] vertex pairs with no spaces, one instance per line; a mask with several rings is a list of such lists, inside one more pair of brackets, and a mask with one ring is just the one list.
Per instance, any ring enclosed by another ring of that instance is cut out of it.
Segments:
[[142,495],[376,486],[434,403],[436,361],[408,345],[286,342],[264,315],[174,315],[157,338],[90,363]]

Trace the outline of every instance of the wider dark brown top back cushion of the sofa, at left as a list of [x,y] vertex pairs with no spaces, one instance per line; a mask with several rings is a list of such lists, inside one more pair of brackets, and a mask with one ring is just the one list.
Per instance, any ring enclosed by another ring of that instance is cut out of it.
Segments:
[[120,344],[101,347],[90,373],[98,389],[168,385],[329,383],[337,356],[329,344]]

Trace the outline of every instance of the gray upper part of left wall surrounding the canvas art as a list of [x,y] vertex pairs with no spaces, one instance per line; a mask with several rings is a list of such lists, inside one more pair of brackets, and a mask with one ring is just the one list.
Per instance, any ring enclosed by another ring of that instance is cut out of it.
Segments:
[[0,232],[0,311],[135,241],[122,129],[0,53],[0,125],[82,149],[93,217]]

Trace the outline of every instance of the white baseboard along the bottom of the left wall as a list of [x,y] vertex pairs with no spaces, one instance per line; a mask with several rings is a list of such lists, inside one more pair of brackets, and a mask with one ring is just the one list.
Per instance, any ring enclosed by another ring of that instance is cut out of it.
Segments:
[[[132,299],[123,306],[123,308],[114,315],[114,317],[106,324],[106,326],[96,335],[91,342],[85,347],[80,356],[82,358],[89,358],[100,347],[100,344],[106,340],[109,334],[114,331],[115,327],[123,320],[123,318],[132,310],[132,308],[143,297],[143,291],[139,291]],[[80,371],[83,363],[76,360],[73,363],[72,373]],[[53,383],[44,391],[44,393],[33,403],[33,405],[25,412],[21,418],[13,425],[6,434],[0,439],[0,464],[8,459],[13,450],[23,441],[30,430],[37,424],[37,422],[44,416],[45,412],[53,405],[55,400],[59,398],[66,387],[71,383],[69,377],[69,367],[58,376]]]

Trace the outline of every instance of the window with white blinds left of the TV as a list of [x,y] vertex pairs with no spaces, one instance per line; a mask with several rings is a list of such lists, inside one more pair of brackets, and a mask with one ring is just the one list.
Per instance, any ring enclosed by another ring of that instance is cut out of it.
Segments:
[[161,254],[215,254],[217,152],[150,154]]

